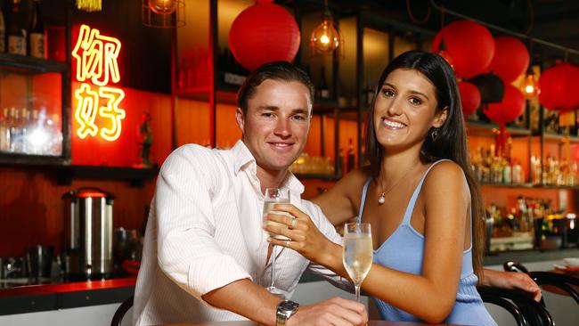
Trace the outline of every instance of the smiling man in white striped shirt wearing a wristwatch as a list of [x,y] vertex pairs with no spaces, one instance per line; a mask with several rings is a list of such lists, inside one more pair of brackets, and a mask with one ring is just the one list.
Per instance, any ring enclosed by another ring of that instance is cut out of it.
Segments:
[[[288,169],[306,144],[313,98],[302,70],[283,61],[266,64],[238,93],[241,141],[229,151],[192,144],[169,155],[145,232],[136,325],[245,318],[288,326],[367,322],[363,305],[354,301],[336,297],[298,307],[263,287],[271,281],[271,248],[262,230],[265,188],[290,190],[291,203],[339,241],[320,208],[300,200],[304,186]],[[334,276],[281,249],[275,286],[292,294],[306,268]]]

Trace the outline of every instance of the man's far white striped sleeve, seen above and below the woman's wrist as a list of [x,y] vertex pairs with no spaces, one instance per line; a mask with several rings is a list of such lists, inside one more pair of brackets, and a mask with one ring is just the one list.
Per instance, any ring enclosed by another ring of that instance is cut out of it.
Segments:
[[[314,203],[306,200],[303,200],[303,204],[305,207],[307,207],[307,211],[311,213],[312,221],[314,221],[314,224],[316,224],[320,232],[322,232],[322,234],[325,235],[326,238],[328,238],[330,241],[342,244],[342,237],[340,237],[338,232],[336,232],[334,225],[330,224],[328,218],[323,215],[322,209]],[[309,273],[322,276],[326,281],[329,281],[331,284],[340,289],[345,289],[349,292],[354,291],[354,284],[351,281],[339,276],[337,273],[330,271],[328,268],[322,265],[310,263],[307,266],[307,271]]]

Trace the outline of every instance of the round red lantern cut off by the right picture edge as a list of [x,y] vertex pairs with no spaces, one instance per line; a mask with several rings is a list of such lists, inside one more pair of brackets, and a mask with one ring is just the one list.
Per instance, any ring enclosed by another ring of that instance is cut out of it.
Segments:
[[579,68],[561,62],[539,77],[539,102],[549,110],[579,109]]

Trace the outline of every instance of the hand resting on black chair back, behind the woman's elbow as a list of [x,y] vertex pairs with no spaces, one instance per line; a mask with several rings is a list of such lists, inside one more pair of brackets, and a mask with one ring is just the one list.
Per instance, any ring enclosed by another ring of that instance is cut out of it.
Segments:
[[501,272],[484,269],[484,285],[502,289],[521,289],[533,297],[535,301],[541,301],[541,288],[526,273]]

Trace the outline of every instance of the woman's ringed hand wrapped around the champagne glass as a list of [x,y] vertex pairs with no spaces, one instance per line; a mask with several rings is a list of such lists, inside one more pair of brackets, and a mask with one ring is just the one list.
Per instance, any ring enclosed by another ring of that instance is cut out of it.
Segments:
[[272,244],[294,249],[310,261],[330,269],[333,269],[334,265],[341,265],[341,246],[328,240],[318,230],[310,216],[295,206],[277,204],[273,207],[273,212],[266,216],[266,220],[288,226],[286,228],[275,224],[265,224],[265,231],[289,239],[278,240],[270,237],[268,241]]

